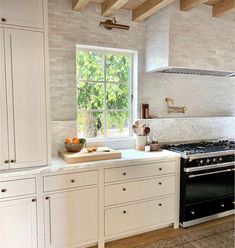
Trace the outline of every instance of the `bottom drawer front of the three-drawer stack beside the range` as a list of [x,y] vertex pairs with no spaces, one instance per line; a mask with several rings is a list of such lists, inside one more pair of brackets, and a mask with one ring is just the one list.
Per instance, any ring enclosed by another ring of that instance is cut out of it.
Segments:
[[105,210],[105,236],[144,228],[150,225],[173,222],[175,218],[175,198],[127,205]]

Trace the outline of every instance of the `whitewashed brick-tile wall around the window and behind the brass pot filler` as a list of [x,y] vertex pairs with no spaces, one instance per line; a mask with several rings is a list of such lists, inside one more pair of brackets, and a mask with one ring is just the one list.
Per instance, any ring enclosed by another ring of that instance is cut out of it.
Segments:
[[76,135],[76,44],[138,50],[139,102],[150,103],[154,115],[177,116],[167,114],[166,96],[173,97],[177,105],[186,105],[187,116],[235,115],[234,80],[144,73],[144,23],[132,22],[131,12],[121,10],[116,19],[130,25],[130,31],[107,31],[99,26],[105,20],[100,5],[90,4],[79,13],[71,10],[71,2],[48,0],[53,154],[62,147],[65,136]]

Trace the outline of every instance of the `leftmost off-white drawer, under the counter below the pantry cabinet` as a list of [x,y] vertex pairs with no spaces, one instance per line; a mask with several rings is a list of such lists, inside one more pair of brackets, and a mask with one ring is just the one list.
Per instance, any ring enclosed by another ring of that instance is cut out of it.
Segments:
[[36,193],[34,178],[0,182],[0,199]]

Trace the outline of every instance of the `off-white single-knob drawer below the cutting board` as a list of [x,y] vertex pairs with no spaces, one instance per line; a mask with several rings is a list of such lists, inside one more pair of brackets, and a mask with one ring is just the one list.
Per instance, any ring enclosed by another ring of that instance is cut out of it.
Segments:
[[98,184],[98,171],[44,177],[44,192]]

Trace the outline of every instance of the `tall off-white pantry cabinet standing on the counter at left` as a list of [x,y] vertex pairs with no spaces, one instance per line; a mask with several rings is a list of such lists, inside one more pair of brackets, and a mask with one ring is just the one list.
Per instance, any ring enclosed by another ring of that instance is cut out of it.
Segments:
[[48,164],[44,0],[0,0],[0,170]]

